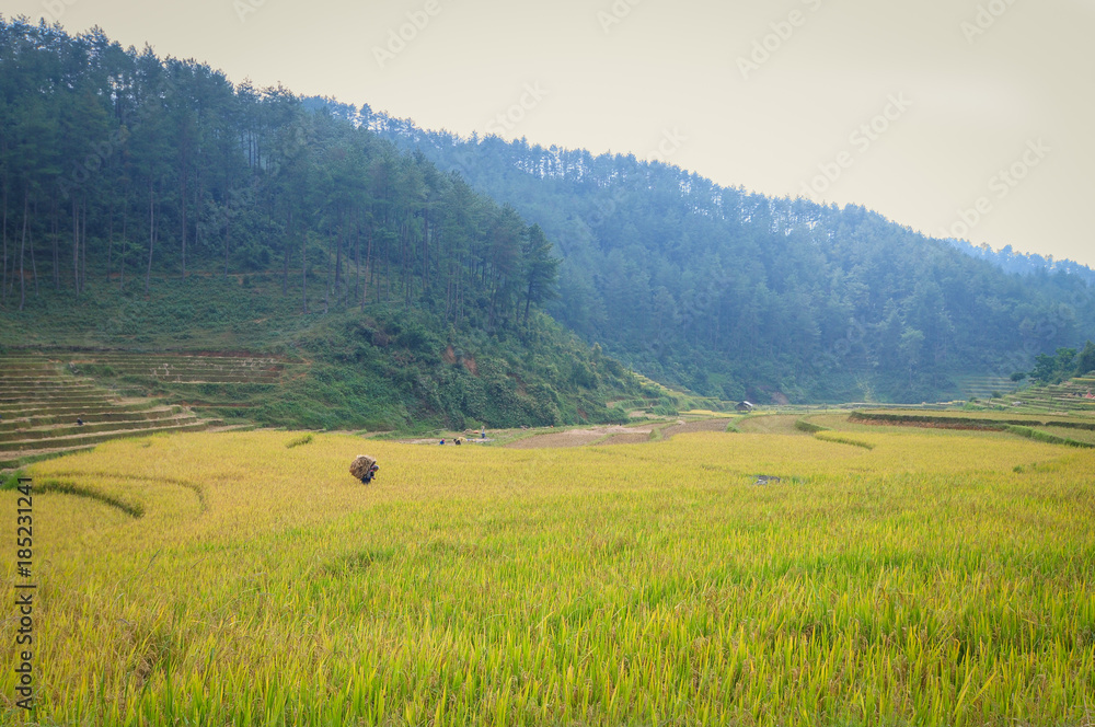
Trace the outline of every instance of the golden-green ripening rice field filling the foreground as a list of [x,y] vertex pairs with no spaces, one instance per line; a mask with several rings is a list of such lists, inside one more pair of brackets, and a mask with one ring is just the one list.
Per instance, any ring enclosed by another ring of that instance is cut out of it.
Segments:
[[[891,429],[189,434],[38,463],[34,718],[1095,724],[1095,452]],[[3,724],[28,719],[14,688]]]

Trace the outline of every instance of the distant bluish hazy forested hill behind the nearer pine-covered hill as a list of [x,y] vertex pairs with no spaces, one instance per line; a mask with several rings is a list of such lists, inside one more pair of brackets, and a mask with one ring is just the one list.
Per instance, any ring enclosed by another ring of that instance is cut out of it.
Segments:
[[957,396],[1095,334],[1068,273],[1010,275],[861,207],[718,186],[633,155],[360,123],[538,222],[564,253],[550,310],[653,377],[729,399]]

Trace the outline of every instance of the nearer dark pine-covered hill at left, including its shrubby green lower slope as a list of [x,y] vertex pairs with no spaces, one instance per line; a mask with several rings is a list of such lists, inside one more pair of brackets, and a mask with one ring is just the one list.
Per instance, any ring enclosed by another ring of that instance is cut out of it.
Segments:
[[[266,423],[619,419],[512,207],[285,89],[0,18],[0,346],[313,362]],[[425,423],[425,424],[424,424]]]

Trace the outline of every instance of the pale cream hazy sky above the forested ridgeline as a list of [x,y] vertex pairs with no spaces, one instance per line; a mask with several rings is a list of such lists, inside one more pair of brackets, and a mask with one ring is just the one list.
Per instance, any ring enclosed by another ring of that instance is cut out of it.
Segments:
[[[1095,0],[0,0],[69,32],[1095,266]],[[980,210],[978,209],[980,207]]]

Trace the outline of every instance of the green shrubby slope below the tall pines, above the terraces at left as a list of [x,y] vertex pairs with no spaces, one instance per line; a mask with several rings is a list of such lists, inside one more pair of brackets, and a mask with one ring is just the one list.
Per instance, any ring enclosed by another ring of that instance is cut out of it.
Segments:
[[[369,305],[304,314],[277,282],[157,279],[119,292],[95,284],[69,305],[43,290],[3,311],[0,353],[53,351],[94,361],[81,372],[123,393],[197,405],[231,420],[325,429],[425,430],[622,422],[607,402],[657,397],[616,361],[543,314],[519,331],[447,325],[427,311]],[[90,302],[93,301],[93,302]],[[126,353],[128,351],[128,353]],[[180,353],[249,351],[288,362],[277,384],[175,382],[125,361],[162,366]],[[79,354],[79,356],[77,356]]]

